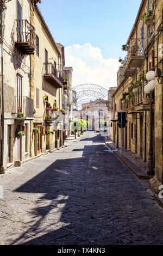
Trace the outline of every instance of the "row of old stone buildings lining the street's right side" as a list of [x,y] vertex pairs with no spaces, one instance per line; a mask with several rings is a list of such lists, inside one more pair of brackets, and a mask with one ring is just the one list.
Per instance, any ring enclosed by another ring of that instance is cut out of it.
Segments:
[[[155,173],[151,187],[162,182],[163,73],[162,55],[158,51],[163,42],[161,29],[162,1],[142,1],[124,47],[127,56],[118,70],[118,74],[123,70],[123,78],[117,79],[117,88],[112,95],[112,140],[117,147],[131,150],[148,163],[147,174]],[[127,123],[122,140],[117,112],[126,112]]]

